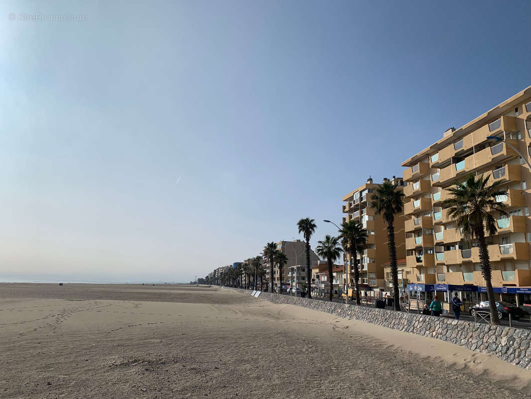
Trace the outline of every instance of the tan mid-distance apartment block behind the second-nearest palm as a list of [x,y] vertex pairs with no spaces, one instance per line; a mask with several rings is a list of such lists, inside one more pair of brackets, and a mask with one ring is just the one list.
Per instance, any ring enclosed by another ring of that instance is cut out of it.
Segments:
[[[383,181],[388,180],[384,178]],[[397,185],[399,190],[404,188],[404,181],[395,176],[391,182]],[[382,216],[375,214],[370,207],[371,196],[378,184],[373,183],[373,179],[348,193],[342,198],[345,205],[342,205],[342,212],[345,213],[343,222],[356,220],[362,223],[367,229],[367,245],[361,256],[357,259],[350,259],[350,255],[344,254],[345,262],[349,264],[348,280],[349,288],[354,287],[354,261],[359,265],[360,288],[362,290],[372,289],[379,291],[387,290],[387,282],[384,278],[383,264],[389,263],[389,250],[387,238],[387,223]],[[395,215],[395,243],[397,248],[397,258],[406,257],[406,245],[404,234],[405,216],[403,213]]]

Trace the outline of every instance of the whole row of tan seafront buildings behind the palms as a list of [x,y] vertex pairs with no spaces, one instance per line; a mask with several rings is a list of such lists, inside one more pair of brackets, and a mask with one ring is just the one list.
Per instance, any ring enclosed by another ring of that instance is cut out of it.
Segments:
[[[463,240],[455,221],[442,207],[449,195],[446,188],[456,180],[464,181],[469,173],[475,173],[489,176],[491,183],[500,181],[508,193],[496,198],[507,205],[508,215],[495,215],[498,232],[487,238],[494,292],[500,300],[517,305],[531,304],[530,147],[531,86],[465,126],[448,129],[437,142],[402,162],[405,168],[402,176],[391,178],[405,194],[404,210],[395,217],[402,291],[424,300],[430,300],[438,292],[447,300],[450,292],[457,291],[465,304],[486,297],[478,247],[476,243]],[[376,186],[369,178],[342,197],[342,221],[361,222],[367,229],[367,245],[356,259],[344,255],[344,265],[335,265],[335,284],[332,282],[338,288],[353,287],[356,262],[362,293],[366,291],[371,296],[392,290],[387,226],[370,207]],[[304,243],[281,241],[277,247],[289,259],[282,280],[291,287],[304,287]],[[321,280],[326,266],[321,262],[312,251],[313,289],[328,283],[323,284]],[[268,266],[265,259],[264,265]],[[347,268],[349,281],[346,280]],[[276,268],[277,286],[278,273]]]

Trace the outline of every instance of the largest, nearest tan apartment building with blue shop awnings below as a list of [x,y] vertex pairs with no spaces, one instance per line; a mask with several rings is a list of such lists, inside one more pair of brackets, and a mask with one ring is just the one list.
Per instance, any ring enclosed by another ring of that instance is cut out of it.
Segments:
[[446,189],[474,173],[488,176],[491,183],[501,182],[508,193],[496,198],[507,205],[508,215],[495,215],[498,234],[487,237],[494,292],[513,303],[531,300],[529,146],[531,87],[465,126],[448,129],[438,142],[402,163],[407,168],[403,176],[409,290],[413,285],[422,288],[426,298],[442,291],[446,299],[458,291],[465,302],[486,292],[476,243],[463,240],[441,206],[449,197]]

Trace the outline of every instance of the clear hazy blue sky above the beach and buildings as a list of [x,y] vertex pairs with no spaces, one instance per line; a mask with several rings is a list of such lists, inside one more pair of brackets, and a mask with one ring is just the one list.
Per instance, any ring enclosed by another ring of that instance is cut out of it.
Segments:
[[187,281],[302,238],[302,217],[315,246],[369,175],[531,85],[529,15],[524,0],[4,1],[0,276]]

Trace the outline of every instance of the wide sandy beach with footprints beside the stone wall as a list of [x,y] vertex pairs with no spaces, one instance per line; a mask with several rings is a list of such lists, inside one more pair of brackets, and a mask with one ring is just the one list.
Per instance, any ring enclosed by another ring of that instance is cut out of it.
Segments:
[[459,346],[195,286],[0,284],[0,397],[531,397]]

